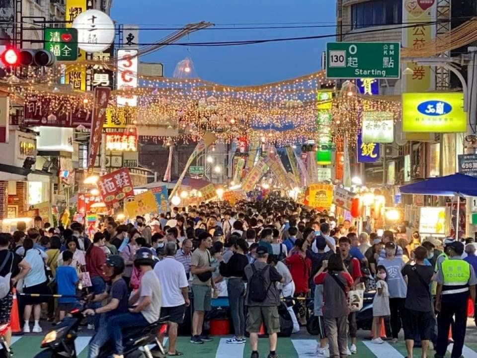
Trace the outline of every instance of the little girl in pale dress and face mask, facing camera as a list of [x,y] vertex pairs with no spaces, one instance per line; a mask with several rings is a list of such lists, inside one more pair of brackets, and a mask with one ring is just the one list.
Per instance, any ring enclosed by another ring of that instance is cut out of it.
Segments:
[[387,283],[388,272],[382,265],[376,268],[376,288],[377,292],[373,300],[373,339],[371,343],[383,344],[384,341],[380,337],[381,322],[391,314],[389,308],[389,289]]

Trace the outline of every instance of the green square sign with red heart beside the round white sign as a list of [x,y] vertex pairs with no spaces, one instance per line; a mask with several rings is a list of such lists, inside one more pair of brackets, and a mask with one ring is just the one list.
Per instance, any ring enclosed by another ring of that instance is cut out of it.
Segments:
[[76,61],[78,58],[78,30],[76,28],[45,28],[45,50],[58,61]]

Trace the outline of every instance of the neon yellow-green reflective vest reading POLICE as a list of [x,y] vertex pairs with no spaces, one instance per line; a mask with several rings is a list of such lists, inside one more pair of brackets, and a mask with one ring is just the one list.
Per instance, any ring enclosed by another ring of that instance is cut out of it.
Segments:
[[462,293],[469,291],[471,266],[464,260],[445,260],[442,262],[444,284],[442,294]]

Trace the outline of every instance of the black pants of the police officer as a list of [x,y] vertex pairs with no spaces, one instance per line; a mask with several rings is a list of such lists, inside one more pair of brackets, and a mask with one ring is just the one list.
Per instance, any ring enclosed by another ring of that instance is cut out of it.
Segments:
[[462,347],[464,347],[467,328],[467,301],[442,303],[441,312],[437,315],[436,357],[444,357],[447,352],[449,328],[453,316],[455,316],[455,323],[452,328],[454,348],[452,349],[451,357],[459,358],[462,356]]

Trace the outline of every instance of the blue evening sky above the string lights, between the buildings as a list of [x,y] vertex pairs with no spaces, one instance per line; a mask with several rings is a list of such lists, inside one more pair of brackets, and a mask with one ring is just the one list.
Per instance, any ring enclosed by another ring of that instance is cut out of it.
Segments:
[[[310,25],[329,26],[201,30],[180,40],[209,42],[334,34],[335,12],[335,0],[113,0],[111,17],[121,24],[139,24],[140,28],[154,27],[146,24],[179,27],[177,25],[199,21],[209,21],[217,25],[319,22]],[[172,31],[141,30],[139,42],[151,43],[170,32]],[[258,85],[319,71],[321,51],[325,49],[327,41],[334,40],[327,38],[231,47],[190,47],[190,52],[184,46],[168,46],[141,58],[141,61],[163,63],[165,76],[170,77],[177,62],[190,55],[198,77],[204,80],[231,86]]]

